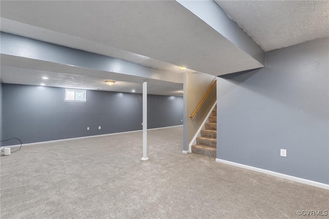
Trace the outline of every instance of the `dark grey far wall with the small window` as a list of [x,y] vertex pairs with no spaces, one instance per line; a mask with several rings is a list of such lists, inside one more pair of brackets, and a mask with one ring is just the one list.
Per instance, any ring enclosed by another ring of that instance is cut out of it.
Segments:
[[[65,88],[3,84],[3,138],[31,143],[142,129],[141,94],[87,90],[85,103],[64,97]],[[182,104],[182,97],[148,95],[148,127],[181,125]]]

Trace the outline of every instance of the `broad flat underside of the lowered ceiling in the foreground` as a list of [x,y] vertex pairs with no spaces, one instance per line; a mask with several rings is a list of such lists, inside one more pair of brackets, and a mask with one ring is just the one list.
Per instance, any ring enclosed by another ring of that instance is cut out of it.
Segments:
[[2,1],[1,17],[5,32],[153,67],[216,76],[263,67],[176,1]]

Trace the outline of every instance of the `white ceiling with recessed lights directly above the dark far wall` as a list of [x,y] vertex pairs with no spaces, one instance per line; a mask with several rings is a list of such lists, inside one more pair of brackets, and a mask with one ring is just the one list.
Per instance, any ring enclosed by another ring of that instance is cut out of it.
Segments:
[[[47,77],[49,79],[42,79]],[[142,84],[116,81],[112,86],[105,84],[111,78],[93,78],[82,75],[50,72],[35,69],[1,66],[1,81],[10,84],[37,85],[41,83],[51,87],[65,87],[89,90],[105,90],[112,92],[142,93]],[[182,84],[161,82],[161,85],[148,84],[148,94],[182,96]]]

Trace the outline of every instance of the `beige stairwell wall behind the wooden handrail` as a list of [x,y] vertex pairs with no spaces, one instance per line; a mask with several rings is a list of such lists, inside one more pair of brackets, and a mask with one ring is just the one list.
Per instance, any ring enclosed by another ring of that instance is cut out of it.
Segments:
[[194,109],[206,95],[211,84],[216,77],[201,72],[184,75],[184,145],[183,151],[189,151],[189,144],[192,141],[202,122],[205,120],[212,105],[216,101],[216,87],[211,90],[211,93],[200,107],[199,111],[193,118],[190,115]]

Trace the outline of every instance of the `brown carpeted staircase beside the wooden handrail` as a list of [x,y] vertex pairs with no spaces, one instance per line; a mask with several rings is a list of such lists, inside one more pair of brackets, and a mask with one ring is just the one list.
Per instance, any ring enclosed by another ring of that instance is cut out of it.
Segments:
[[201,137],[196,138],[196,144],[192,146],[192,153],[216,157],[217,147],[217,106],[205,123],[205,130],[201,130]]

